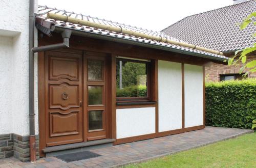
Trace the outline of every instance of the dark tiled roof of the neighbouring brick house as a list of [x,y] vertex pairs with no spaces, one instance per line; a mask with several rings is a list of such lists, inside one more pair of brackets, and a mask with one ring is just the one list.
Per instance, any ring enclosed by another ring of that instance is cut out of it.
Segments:
[[252,46],[255,42],[255,26],[240,30],[239,23],[256,11],[254,0],[208,12],[191,15],[168,26],[161,32],[202,47],[233,51]]

